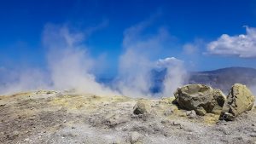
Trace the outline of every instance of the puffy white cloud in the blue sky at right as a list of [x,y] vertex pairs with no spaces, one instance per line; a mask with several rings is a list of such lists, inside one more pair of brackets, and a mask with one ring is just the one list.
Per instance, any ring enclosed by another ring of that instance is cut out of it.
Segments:
[[211,55],[256,57],[256,28],[246,26],[246,34],[238,36],[223,34],[218,40],[207,44],[207,51]]

